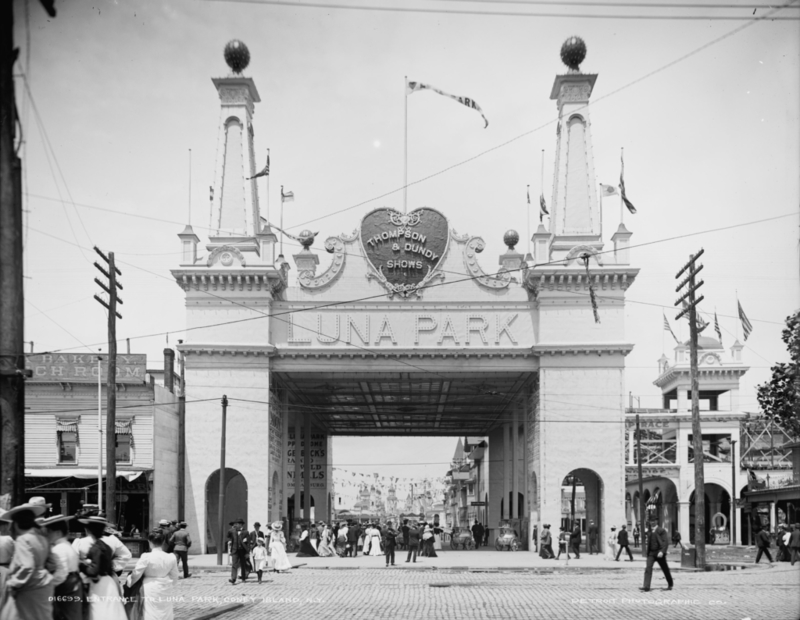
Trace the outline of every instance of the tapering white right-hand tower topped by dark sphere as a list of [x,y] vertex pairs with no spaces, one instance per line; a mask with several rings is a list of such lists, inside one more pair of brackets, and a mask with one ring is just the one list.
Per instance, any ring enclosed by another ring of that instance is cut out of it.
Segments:
[[589,98],[597,74],[581,72],[585,58],[583,39],[567,39],[561,46],[561,61],[568,71],[556,76],[550,93],[557,101],[559,118],[550,220],[552,256],[548,259],[562,258],[576,245],[598,249],[602,245],[589,121]]

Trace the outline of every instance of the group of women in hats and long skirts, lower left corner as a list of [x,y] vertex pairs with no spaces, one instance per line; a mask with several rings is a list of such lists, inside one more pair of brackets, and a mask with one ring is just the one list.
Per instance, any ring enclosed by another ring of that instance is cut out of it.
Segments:
[[178,564],[162,550],[162,530],[150,532],[150,552],[121,579],[114,562],[124,545],[109,535],[104,518],[78,517],[85,536],[70,544],[69,521],[76,517],[42,519],[47,508],[37,497],[0,514],[9,530],[0,532],[0,619],[172,620]]

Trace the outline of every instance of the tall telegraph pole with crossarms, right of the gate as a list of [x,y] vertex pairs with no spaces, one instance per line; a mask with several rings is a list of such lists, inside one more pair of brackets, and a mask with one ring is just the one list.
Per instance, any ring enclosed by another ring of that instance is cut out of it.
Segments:
[[[678,306],[683,303],[684,308],[675,317],[681,319],[689,315],[690,339],[690,361],[692,377],[692,449],[694,452],[694,543],[696,549],[697,568],[704,568],[706,565],[706,508],[705,508],[705,480],[703,476],[703,435],[700,428],[700,388],[697,376],[697,305],[703,301],[704,297],[695,297],[697,290],[703,286],[704,282],[696,280],[697,274],[702,271],[703,266],[697,265],[697,259],[703,255],[704,250],[689,256],[689,262],[675,274],[675,279],[680,278],[688,271],[686,277],[675,288],[678,293],[688,285],[684,293],[675,302]],[[687,301],[688,300],[688,301]]]

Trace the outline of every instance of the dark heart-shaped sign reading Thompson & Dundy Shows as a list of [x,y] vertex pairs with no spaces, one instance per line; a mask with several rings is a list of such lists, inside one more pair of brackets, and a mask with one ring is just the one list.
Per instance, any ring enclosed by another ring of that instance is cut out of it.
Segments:
[[403,214],[375,209],[361,220],[361,245],[390,293],[408,296],[436,272],[447,252],[450,229],[444,215],[422,207]]

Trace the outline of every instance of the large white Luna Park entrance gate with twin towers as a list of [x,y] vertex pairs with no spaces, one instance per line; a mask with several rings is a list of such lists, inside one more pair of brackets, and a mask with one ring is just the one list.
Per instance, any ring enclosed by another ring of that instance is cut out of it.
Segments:
[[[186,421],[192,551],[211,550],[220,530],[221,394],[223,526],[238,517],[308,519],[307,498],[317,519],[330,515],[337,434],[488,437],[482,514],[493,528],[508,519],[523,532],[558,524],[570,475],[582,483],[589,518],[601,528],[623,520],[624,361],[633,347],[624,305],[638,270],[624,226],[613,249],[602,242],[589,121],[596,79],[575,63],[556,77],[550,226],[539,226],[527,260],[509,231],[498,273],[481,264],[485,241],[457,232],[446,204],[369,211],[355,232],[320,244],[331,255],[324,261],[304,231],[286,241],[292,267],[277,255],[251,179],[255,83],[239,74],[213,81],[224,148],[215,232],[200,256],[187,226],[172,271],[185,292],[189,331],[179,348],[197,401]],[[299,455],[297,436],[312,444]]]

